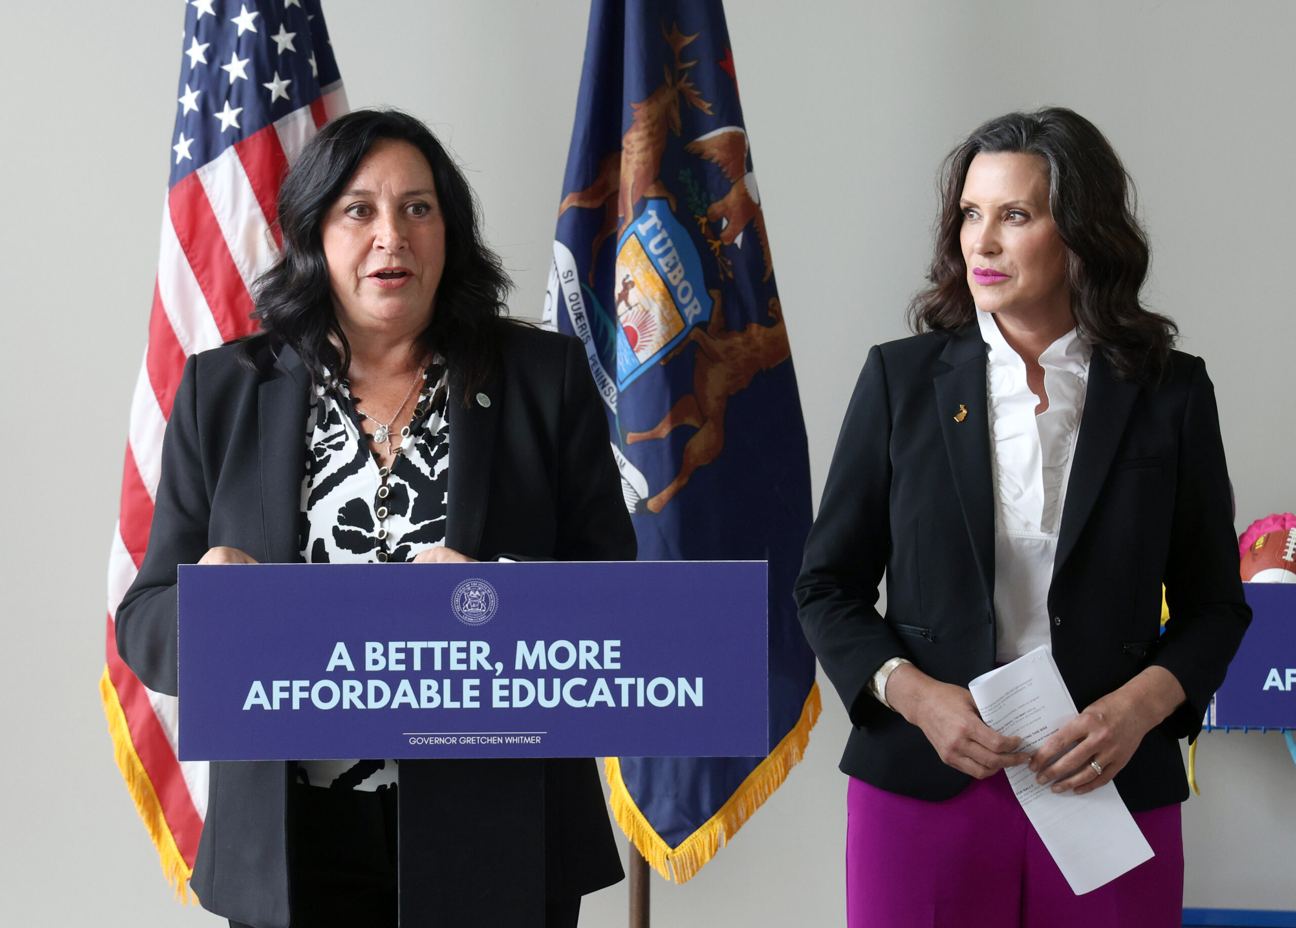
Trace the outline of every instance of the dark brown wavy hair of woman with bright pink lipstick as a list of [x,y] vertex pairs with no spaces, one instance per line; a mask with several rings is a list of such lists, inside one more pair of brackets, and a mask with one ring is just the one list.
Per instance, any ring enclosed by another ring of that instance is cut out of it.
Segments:
[[1134,183],[1098,127],[1061,106],[991,119],[945,158],[936,255],[929,285],[908,306],[912,331],[956,332],[975,319],[959,242],[959,200],[972,158],[981,152],[1038,154],[1047,162],[1048,206],[1067,246],[1077,331],[1102,349],[1118,377],[1159,378],[1178,327],[1139,301],[1151,251],[1135,216]]

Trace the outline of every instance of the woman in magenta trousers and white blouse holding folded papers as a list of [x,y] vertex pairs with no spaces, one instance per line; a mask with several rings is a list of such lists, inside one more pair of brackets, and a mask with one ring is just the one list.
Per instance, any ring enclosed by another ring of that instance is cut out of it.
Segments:
[[[1178,739],[1251,610],[1210,380],[1139,301],[1131,203],[1076,113],[981,126],[945,163],[919,334],[859,377],[797,583],[854,723],[851,928],[1179,924]],[[1081,713],[1028,756],[967,684],[1039,645]],[[1002,772],[1021,763],[1055,792],[1115,780],[1155,857],[1076,896]]]

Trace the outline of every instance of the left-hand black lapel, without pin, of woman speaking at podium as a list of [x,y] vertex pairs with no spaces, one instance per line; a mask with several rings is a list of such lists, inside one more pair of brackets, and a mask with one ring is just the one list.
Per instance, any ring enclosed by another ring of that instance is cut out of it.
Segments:
[[310,377],[297,353],[285,347],[275,362],[273,376],[260,385],[257,397],[260,520],[267,564],[299,560],[308,411]]

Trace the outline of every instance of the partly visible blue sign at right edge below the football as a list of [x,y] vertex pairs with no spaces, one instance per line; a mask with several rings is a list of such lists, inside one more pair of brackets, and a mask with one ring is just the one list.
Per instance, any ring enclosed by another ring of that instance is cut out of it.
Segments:
[[1243,583],[1255,617],[1208,722],[1296,728],[1296,583]]

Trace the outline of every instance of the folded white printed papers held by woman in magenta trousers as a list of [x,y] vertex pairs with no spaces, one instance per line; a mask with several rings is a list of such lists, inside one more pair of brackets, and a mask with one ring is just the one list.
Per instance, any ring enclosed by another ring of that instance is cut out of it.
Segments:
[[[981,718],[1001,735],[1021,737],[1032,753],[1076,717],[1048,645],[977,677],[968,684]],[[1085,796],[1054,793],[1036,783],[1026,765],[1004,771],[1017,801],[1077,896],[1111,883],[1143,861],[1152,848],[1108,783]]]

